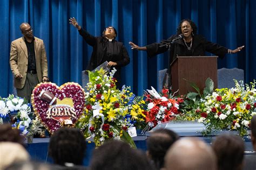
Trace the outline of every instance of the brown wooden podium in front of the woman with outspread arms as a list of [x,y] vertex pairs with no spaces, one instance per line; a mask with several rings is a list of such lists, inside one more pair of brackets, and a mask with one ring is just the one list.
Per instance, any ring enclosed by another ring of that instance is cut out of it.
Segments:
[[208,77],[212,79],[214,89],[217,88],[217,58],[218,56],[177,56],[170,65],[172,93],[177,90],[179,91],[176,95],[185,95],[188,91],[196,92],[187,81],[196,83],[202,93]]

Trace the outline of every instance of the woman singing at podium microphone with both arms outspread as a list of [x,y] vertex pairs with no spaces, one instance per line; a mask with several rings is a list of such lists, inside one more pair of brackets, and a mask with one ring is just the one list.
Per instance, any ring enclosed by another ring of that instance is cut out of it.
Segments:
[[197,26],[190,19],[181,20],[177,28],[177,34],[167,40],[162,40],[159,43],[153,43],[144,47],[139,47],[133,42],[129,42],[129,44],[132,49],[147,51],[150,57],[164,53],[170,48],[170,63],[172,63],[177,56],[204,56],[205,52],[210,52],[223,58],[227,53],[237,53],[244,48],[244,46],[241,46],[231,50],[214,44],[211,41],[207,41],[203,36],[197,34]]

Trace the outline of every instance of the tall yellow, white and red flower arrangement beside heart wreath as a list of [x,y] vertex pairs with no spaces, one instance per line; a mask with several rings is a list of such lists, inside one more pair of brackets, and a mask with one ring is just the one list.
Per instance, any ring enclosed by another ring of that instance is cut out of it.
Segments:
[[131,126],[125,116],[132,94],[125,86],[122,90],[116,88],[116,80],[113,77],[115,72],[116,69],[113,69],[110,75],[106,75],[103,69],[89,71],[89,83],[86,86],[89,92],[85,95],[86,109],[76,126],[84,130],[86,138],[93,138],[96,147],[107,139],[120,138],[135,147],[125,131]]

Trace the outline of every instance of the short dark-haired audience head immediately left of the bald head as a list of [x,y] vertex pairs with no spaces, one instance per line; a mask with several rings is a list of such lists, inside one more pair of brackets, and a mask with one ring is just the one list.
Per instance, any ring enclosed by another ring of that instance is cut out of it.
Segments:
[[158,169],[164,167],[165,154],[174,141],[178,139],[178,134],[167,129],[158,129],[147,138],[147,154]]

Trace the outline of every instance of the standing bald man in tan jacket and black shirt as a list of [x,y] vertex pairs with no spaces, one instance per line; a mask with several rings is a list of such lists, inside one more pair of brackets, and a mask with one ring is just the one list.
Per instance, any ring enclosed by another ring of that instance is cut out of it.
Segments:
[[11,42],[10,67],[17,95],[30,101],[36,85],[49,81],[47,58],[44,42],[33,36],[32,27],[22,23],[19,28],[23,37]]

